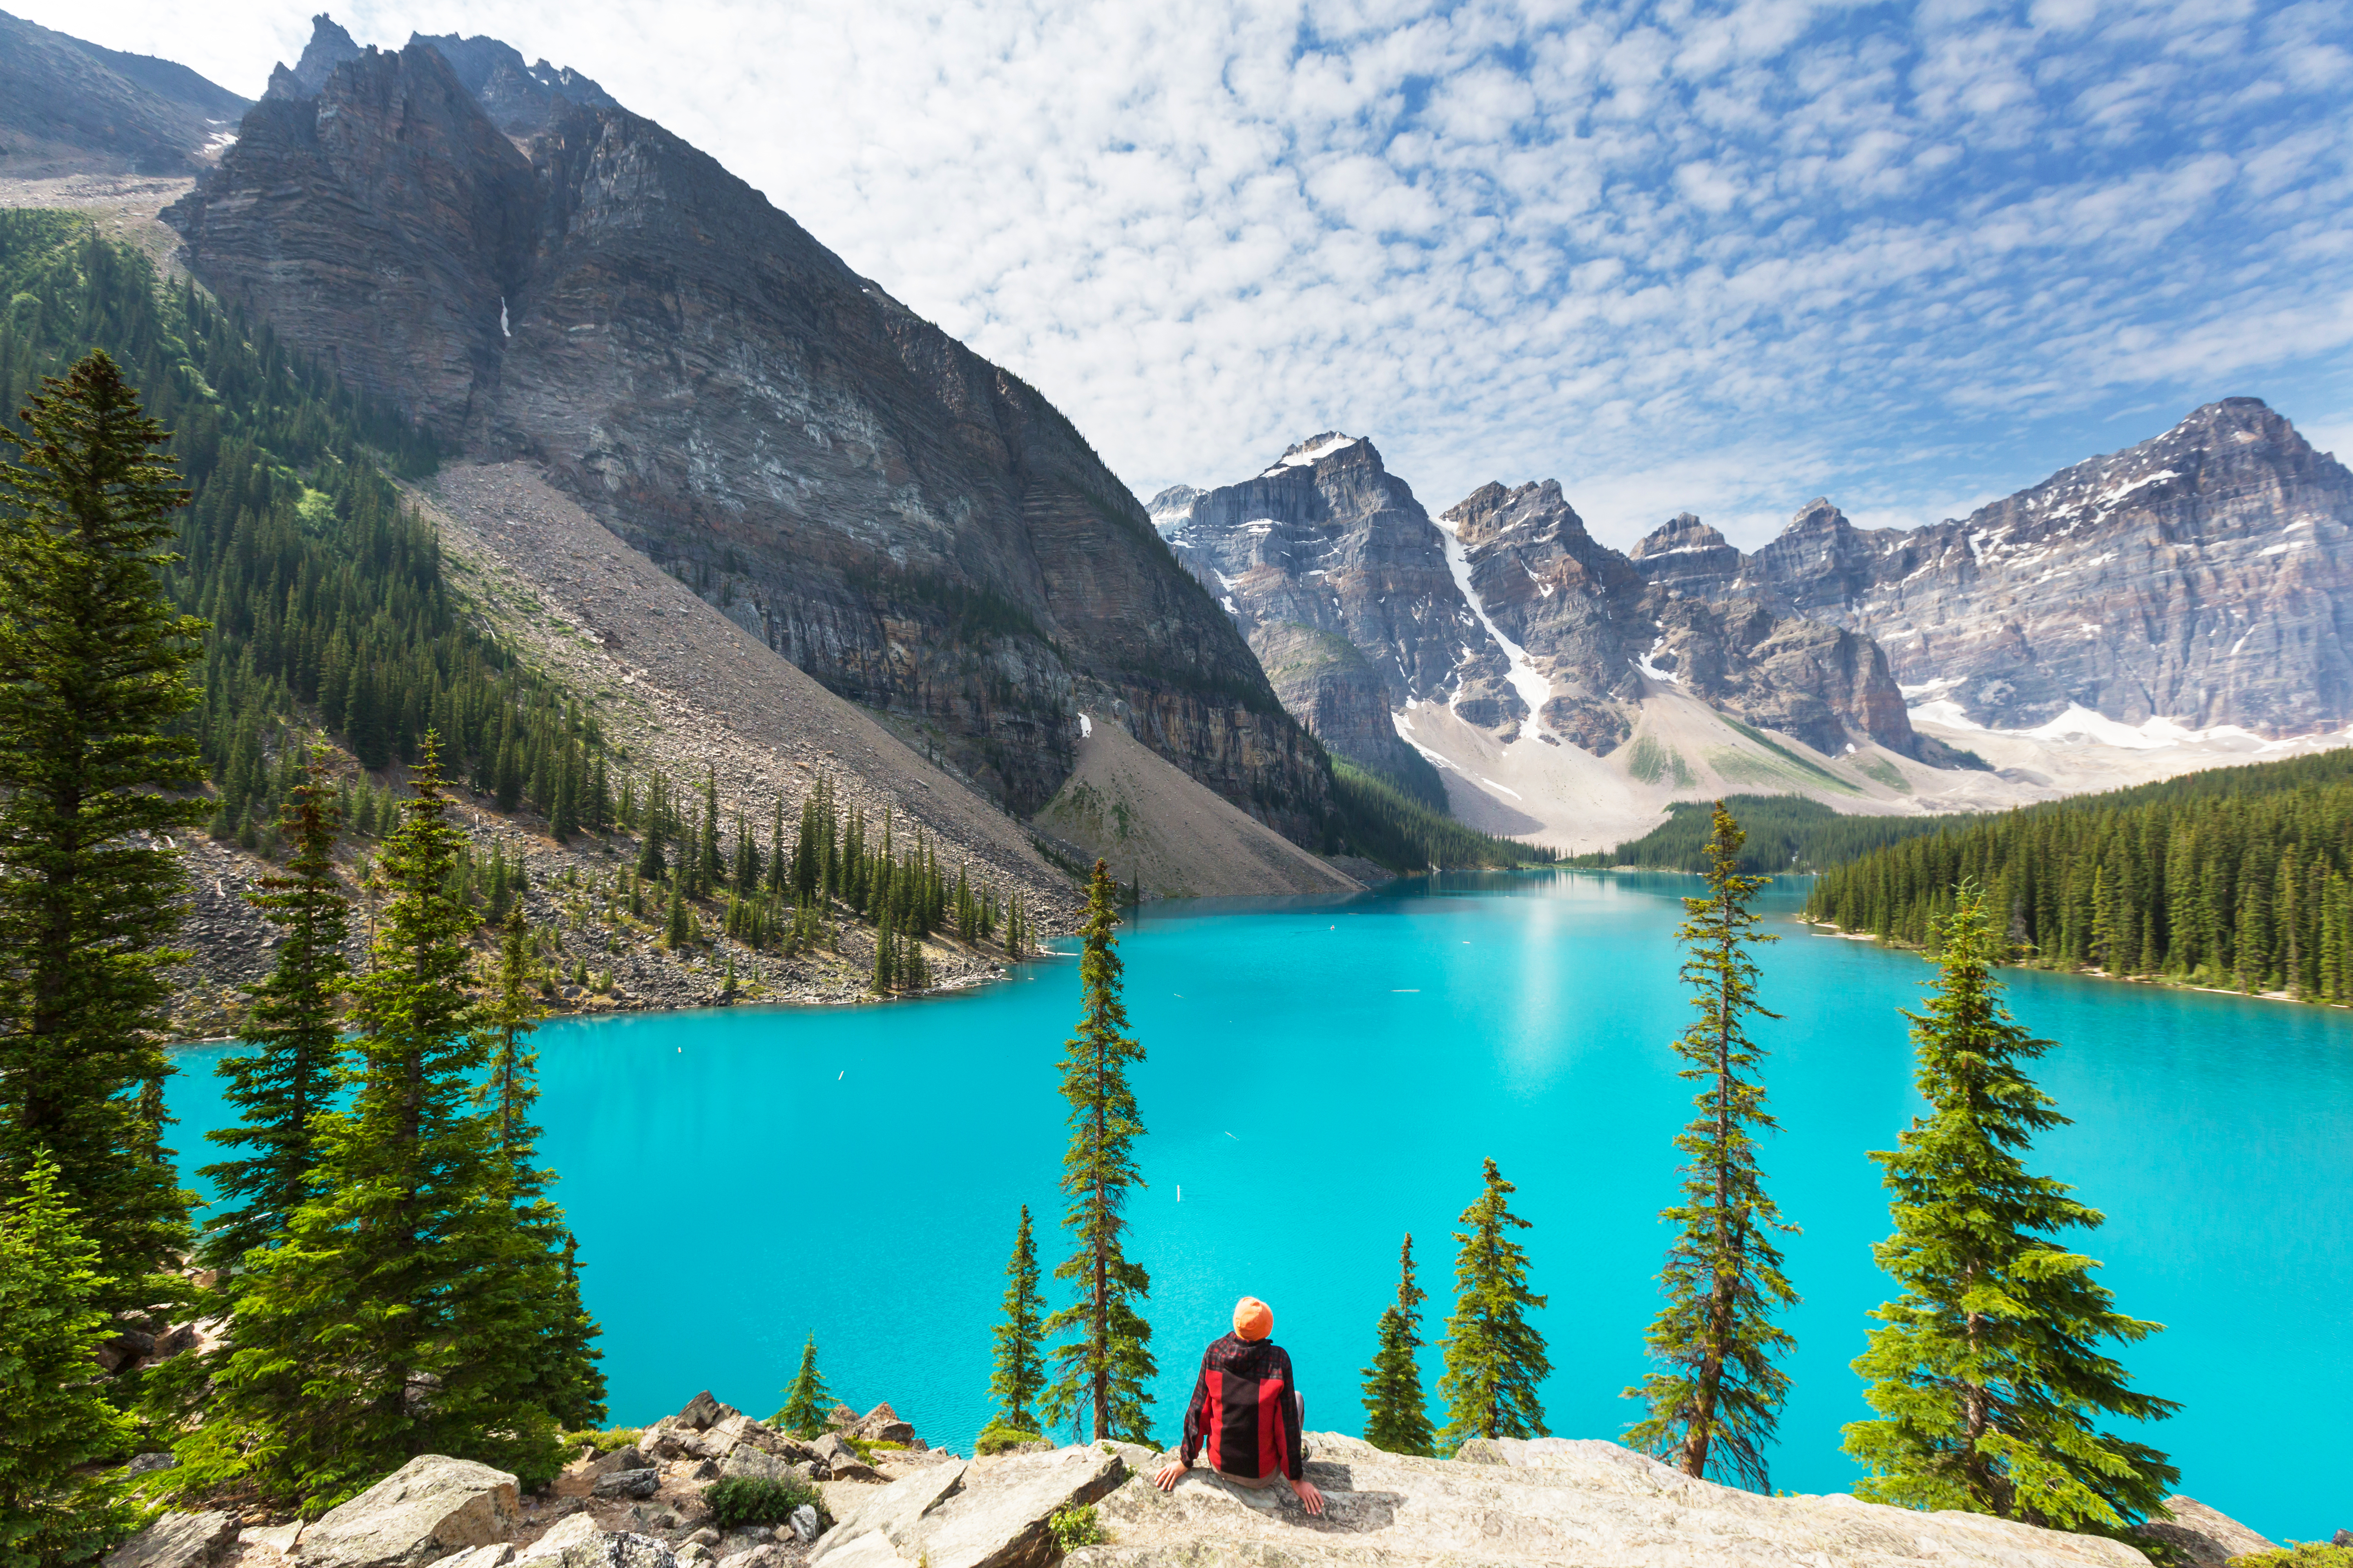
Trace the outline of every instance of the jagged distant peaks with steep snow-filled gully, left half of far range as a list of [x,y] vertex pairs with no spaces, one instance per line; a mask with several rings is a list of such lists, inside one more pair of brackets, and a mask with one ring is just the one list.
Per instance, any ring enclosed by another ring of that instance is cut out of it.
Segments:
[[1153,520],[1285,705],[1369,766],[1395,771],[1393,715],[1417,703],[1504,745],[1607,757],[1647,682],[1824,755],[1946,762],[1868,637],[1734,590],[1739,552],[1689,515],[1633,557],[1598,543],[1555,480],[1485,484],[1433,522],[1372,442],[1318,435],[1242,484],[1155,496]]

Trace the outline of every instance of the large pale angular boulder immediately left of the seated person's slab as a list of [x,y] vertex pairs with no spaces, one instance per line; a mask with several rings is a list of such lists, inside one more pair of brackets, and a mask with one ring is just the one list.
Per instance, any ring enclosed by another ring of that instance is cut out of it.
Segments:
[[1047,1521],[1127,1479],[1118,1453],[1059,1448],[972,1465],[925,1465],[828,1530],[812,1568],[1045,1568]]

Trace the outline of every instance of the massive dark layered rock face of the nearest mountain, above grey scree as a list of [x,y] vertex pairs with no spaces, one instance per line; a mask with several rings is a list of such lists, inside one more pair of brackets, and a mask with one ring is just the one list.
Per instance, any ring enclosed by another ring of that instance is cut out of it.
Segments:
[[212,289],[1024,816],[1085,708],[1318,835],[1318,748],[1045,397],[593,82],[329,28],[167,214]]

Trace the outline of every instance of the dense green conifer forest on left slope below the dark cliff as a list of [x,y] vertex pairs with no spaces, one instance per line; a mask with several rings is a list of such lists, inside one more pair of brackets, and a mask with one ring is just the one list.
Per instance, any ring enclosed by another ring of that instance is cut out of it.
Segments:
[[104,348],[139,383],[191,491],[165,585],[209,625],[188,724],[219,795],[209,830],[259,846],[318,724],[367,769],[442,764],[567,837],[602,762],[593,715],[459,614],[433,527],[391,475],[433,447],[268,327],[71,214],[0,212],[0,411]]

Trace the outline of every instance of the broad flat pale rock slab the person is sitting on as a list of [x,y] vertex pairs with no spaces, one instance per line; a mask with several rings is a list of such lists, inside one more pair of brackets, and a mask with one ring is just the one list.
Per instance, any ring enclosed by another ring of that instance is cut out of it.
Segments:
[[[1617,1443],[1504,1439],[1471,1460],[1414,1460],[1308,1434],[1311,1519],[1287,1488],[1202,1469],[1160,1493],[1139,1474],[1101,1502],[1108,1544],[1068,1568],[2146,1568],[2132,1547],[1981,1514],[1852,1497],[1760,1497],[1694,1481]],[[1141,1469],[1141,1467],[1139,1467]]]

